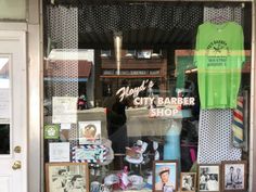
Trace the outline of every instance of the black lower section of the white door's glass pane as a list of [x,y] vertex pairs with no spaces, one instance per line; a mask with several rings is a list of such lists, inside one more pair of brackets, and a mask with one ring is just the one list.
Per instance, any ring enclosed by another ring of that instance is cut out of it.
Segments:
[[10,125],[0,124],[0,154],[10,154]]

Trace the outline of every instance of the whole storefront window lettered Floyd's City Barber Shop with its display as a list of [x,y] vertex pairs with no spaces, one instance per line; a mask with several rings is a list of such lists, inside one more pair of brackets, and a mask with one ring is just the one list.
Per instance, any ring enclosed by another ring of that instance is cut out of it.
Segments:
[[247,190],[251,3],[217,4],[44,3],[46,191]]

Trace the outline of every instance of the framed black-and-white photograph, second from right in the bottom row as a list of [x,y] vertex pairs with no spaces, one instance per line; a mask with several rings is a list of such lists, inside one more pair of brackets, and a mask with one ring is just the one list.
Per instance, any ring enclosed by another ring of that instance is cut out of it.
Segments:
[[220,191],[220,165],[199,165],[199,190],[197,191]]

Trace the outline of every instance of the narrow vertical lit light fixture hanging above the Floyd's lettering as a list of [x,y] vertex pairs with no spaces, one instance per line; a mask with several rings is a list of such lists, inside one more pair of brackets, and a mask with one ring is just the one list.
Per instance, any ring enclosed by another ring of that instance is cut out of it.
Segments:
[[120,60],[121,60],[121,33],[114,33],[114,47],[116,55],[116,74],[120,75]]

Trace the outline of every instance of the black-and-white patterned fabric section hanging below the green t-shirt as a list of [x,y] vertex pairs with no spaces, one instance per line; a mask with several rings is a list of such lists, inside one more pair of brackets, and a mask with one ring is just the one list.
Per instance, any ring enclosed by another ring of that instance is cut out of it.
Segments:
[[231,143],[232,110],[201,110],[200,164],[218,164],[221,161],[239,161],[242,151]]

